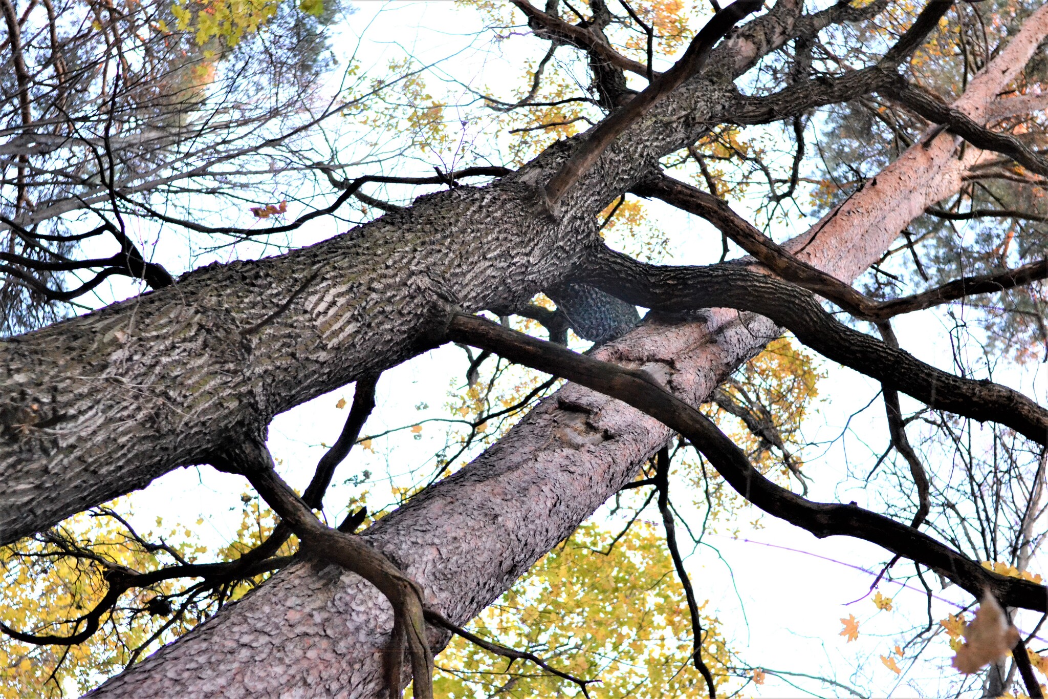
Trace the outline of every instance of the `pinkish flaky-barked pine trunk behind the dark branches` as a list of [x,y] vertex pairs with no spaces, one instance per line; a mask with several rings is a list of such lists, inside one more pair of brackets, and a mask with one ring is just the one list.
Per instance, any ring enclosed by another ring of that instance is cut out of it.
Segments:
[[[1046,34],[1048,6],[955,106],[982,118]],[[968,149],[959,160],[956,150],[948,134],[911,148],[790,247],[852,281],[926,206],[957,192],[982,156]],[[704,322],[646,324],[597,356],[645,366],[698,405],[779,333],[767,319],[713,309]],[[671,436],[636,410],[568,385],[468,466],[364,536],[423,586],[429,605],[464,622],[633,479]],[[391,627],[388,604],[356,575],[296,565],[92,696],[378,697]]]

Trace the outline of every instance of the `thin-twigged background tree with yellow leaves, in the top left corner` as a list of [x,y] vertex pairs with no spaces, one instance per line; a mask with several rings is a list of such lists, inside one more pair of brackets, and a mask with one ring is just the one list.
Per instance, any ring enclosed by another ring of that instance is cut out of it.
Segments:
[[[344,92],[318,94],[330,63],[323,26],[336,3],[314,14],[276,2],[2,9],[5,334],[57,320],[56,302],[112,275],[170,283],[127,220],[175,220],[190,196],[199,220],[279,187],[321,155],[301,134],[347,106]],[[112,258],[69,257],[100,236],[114,238]],[[78,271],[87,272],[82,284],[56,286]]]

